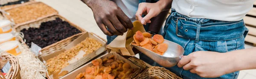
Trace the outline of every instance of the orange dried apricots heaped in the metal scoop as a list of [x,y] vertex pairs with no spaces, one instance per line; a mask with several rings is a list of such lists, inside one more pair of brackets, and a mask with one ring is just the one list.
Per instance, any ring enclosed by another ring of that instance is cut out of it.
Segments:
[[168,45],[163,43],[164,39],[160,34],[155,34],[152,39],[150,33],[137,31],[133,37],[134,42],[131,45],[141,46],[160,55],[163,55],[168,48]]

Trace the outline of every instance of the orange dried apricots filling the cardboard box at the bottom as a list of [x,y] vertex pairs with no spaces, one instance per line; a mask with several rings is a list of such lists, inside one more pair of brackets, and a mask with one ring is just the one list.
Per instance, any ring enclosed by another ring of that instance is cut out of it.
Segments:
[[79,73],[76,79],[128,79],[136,69],[114,55],[105,59],[95,59],[93,66],[87,67],[85,72]]

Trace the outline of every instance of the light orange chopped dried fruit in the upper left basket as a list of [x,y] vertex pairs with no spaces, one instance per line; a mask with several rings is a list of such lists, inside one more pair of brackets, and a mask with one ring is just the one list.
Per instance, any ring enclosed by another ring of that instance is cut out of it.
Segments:
[[26,6],[20,6],[7,10],[6,12],[10,13],[10,15],[6,15],[6,17],[9,20],[13,19],[16,24],[36,20],[39,17],[57,13],[55,9],[44,3],[33,3]]

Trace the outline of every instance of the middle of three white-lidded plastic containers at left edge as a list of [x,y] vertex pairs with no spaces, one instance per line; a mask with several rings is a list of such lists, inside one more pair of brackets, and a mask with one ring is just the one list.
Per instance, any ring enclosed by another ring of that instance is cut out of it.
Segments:
[[15,41],[15,36],[12,35],[11,33],[3,33],[0,34],[0,44],[3,42],[8,42],[8,41]]

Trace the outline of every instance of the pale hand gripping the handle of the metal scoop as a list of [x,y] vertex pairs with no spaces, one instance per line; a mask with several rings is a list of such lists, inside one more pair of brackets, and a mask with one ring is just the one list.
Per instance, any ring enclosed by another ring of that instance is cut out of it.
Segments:
[[215,78],[233,72],[233,60],[229,57],[224,53],[196,51],[183,56],[177,66],[201,77]]

